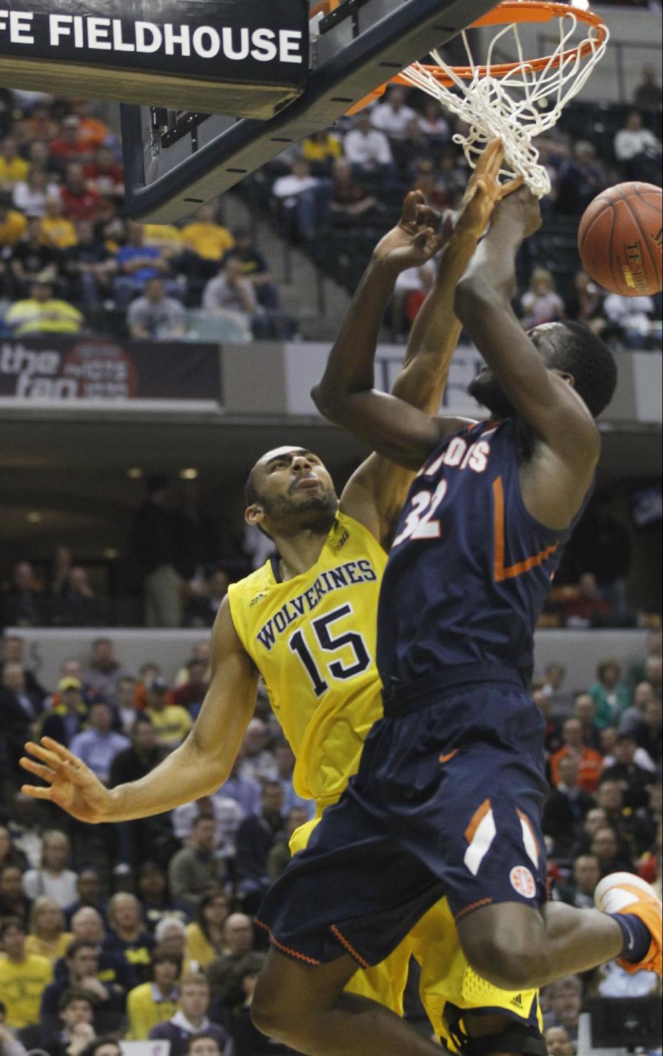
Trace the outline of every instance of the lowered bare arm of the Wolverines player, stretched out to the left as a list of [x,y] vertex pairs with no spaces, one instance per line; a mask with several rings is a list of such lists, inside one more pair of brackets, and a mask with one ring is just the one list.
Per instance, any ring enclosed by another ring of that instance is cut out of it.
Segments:
[[183,743],[145,777],[105,788],[69,749],[42,737],[25,748],[34,758],[21,766],[47,781],[24,785],[36,799],[50,799],[81,822],[128,822],[149,817],[210,795],[229,776],[256,702],[258,674],[244,650],[225,598],[213,630],[211,681],[200,715]]

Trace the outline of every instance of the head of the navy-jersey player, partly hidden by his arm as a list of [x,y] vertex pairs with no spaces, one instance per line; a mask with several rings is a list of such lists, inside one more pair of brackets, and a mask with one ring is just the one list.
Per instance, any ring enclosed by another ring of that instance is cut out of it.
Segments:
[[[596,418],[612,399],[616,385],[616,364],[608,346],[583,323],[545,323],[528,333],[546,366],[573,385]],[[516,416],[490,367],[471,381],[467,392],[495,417]]]

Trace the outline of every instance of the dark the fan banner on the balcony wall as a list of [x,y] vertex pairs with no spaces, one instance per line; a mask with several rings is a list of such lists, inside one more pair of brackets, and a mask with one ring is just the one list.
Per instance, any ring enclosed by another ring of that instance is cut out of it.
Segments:
[[51,400],[218,400],[216,344],[95,337],[0,340],[0,396]]

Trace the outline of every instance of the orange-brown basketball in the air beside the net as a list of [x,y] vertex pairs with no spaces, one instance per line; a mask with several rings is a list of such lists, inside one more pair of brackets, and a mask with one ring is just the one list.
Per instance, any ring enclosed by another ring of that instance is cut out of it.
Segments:
[[616,184],[587,206],[577,232],[585,270],[613,294],[661,289],[662,191],[653,184]]

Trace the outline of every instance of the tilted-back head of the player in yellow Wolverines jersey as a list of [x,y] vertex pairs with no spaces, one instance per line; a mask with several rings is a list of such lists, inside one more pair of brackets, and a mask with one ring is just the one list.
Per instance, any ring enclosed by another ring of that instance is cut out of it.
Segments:
[[307,528],[327,532],[338,507],[331,476],[303,448],[268,451],[248,474],[245,493],[246,523],[270,538]]

